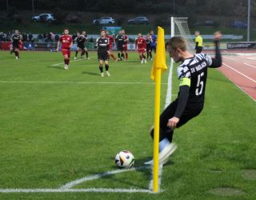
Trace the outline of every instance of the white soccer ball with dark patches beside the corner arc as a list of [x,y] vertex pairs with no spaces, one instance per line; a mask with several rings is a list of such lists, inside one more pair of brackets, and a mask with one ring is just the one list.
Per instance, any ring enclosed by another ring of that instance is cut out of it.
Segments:
[[129,150],[122,150],[115,156],[115,165],[122,169],[130,169],[134,161],[134,155]]

